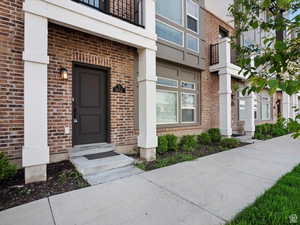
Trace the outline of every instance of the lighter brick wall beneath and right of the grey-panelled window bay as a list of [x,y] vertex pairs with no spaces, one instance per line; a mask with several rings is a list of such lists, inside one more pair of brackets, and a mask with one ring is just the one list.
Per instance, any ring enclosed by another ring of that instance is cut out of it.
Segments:
[[[227,29],[230,34],[234,29],[211,14],[209,11],[204,10],[204,32],[205,32],[205,48],[204,56],[206,59],[206,69],[201,72],[200,81],[200,124],[179,127],[160,127],[158,135],[173,133],[175,135],[185,134],[199,134],[207,131],[209,128],[219,127],[219,76],[215,73],[209,72],[209,46],[218,40],[219,26]],[[234,82],[234,81],[233,81]],[[235,103],[232,111],[233,120],[237,120],[237,104]]]

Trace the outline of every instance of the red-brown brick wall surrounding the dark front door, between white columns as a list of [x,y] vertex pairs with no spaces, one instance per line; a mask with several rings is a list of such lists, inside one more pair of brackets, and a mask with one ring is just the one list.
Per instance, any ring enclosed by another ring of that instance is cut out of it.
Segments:
[[[112,143],[136,143],[134,103],[134,57],[136,49],[79,31],[49,24],[48,66],[48,126],[51,153],[65,152],[72,146],[72,132],[64,134],[64,127],[72,127],[72,63],[81,62],[110,68],[109,133]],[[69,71],[67,81],[59,70]],[[126,93],[114,93],[112,88],[122,84]]]

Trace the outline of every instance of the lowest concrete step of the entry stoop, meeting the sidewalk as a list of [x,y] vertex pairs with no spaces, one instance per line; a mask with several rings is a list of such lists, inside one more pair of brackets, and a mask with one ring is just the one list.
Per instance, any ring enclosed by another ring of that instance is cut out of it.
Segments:
[[97,185],[141,174],[143,172],[143,170],[140,170],[135,166],[130,165],[122,168],[112,169],[96,175],[85,176],[84,178],[90,185]]

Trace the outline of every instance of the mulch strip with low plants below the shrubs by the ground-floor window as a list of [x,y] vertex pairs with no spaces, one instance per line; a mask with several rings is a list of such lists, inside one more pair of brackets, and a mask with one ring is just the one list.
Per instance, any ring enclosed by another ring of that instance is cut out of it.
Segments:
[[[249,145],[248,143],[240,143],[239,147]],[[216,154],[219,152],[227,151],[231,149],[226,149],[220,145],[201,145],[191,152],[185,152],[183,150],[179,151],[169,151],[163,154],[157,154],[157,158],[153,162],[143,162],[137,164],[137,167],[145,170],[155,170],[158,168],[174,165],[180,162],[191,161],[200,157]]]

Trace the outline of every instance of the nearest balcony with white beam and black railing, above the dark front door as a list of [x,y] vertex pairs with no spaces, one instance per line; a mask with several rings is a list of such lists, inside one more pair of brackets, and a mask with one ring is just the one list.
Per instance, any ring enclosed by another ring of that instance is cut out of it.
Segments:
[[137,49],[157,50],[155,0],[25,0],[23,11]]

